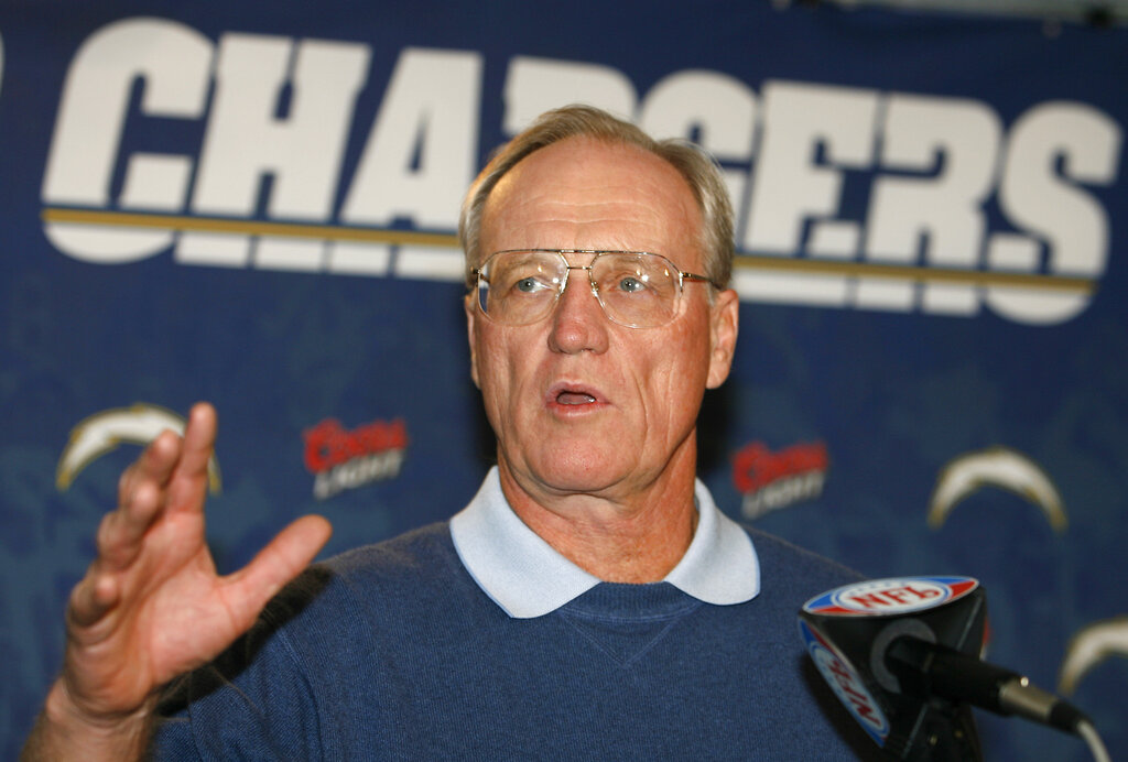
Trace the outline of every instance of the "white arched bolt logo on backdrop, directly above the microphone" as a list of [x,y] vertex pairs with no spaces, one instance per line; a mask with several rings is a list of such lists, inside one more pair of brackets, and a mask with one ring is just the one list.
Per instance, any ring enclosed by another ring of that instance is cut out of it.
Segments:
[[958,503],[984,487],[999,487],[1041,508],[1056,532],[1068,524],[1065,506],[1049,476],[1032,460],[1007,448],[988,448],[957,458],[941,471],[928,500],[928,525],[940,529]]

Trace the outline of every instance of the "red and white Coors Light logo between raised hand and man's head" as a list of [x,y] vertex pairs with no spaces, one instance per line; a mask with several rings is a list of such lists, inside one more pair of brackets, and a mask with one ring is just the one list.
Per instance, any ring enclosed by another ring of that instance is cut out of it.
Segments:
[[407,450],[407,425],[402,418],[374,420],[345,431],[327,418],[307,428],[306,468],[314,475],[314,497],[327,499],[345,490],[399,476]]

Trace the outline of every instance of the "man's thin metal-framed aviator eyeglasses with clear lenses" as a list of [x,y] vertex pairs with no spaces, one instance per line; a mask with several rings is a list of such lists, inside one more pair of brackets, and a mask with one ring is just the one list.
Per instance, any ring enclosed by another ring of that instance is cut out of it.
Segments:
[[[592,255],[587,265],[570,265],[565,254]],[[567,286],[569,273],[588,271],[591,293],[603,314],[628,328],[658,328],[678,314],[686,281],[715,283],[679,271],[672,262],[647,251],[585,249],[511,249],[490,255],[473,271],[478,309],[506,326],[544,319]]]

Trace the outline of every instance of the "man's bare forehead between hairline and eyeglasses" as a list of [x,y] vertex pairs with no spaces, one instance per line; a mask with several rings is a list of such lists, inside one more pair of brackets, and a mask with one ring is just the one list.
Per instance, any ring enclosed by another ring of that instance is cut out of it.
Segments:
[[689,184],[635,145],[570,138],[521,160],[494,187],[482,251],[632,249],[699,262],[700,212]]

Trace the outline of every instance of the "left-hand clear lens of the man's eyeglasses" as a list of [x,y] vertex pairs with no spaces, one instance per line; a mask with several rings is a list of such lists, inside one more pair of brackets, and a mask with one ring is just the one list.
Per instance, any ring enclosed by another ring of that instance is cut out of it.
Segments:
[[478,276],[478,304],[497,322],[536,322],[553,309],[566,273],[564,260],[552,251],[495,254]]

